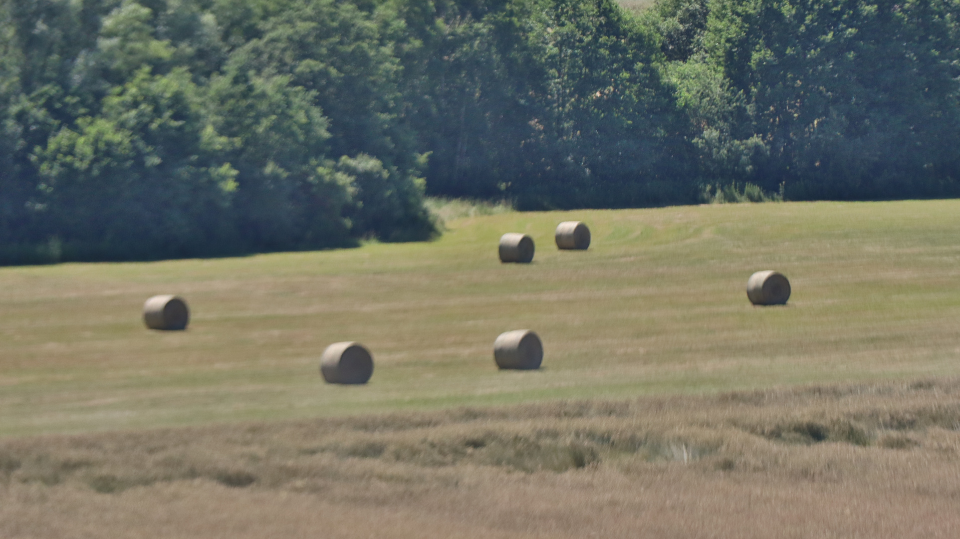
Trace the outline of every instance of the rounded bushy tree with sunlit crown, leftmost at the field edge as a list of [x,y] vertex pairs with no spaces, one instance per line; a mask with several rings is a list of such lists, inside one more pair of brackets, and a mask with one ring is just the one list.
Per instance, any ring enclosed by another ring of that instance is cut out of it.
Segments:
[[64,256],[185,257],[230,246],[236,171],[215,155],[220,138],[185,70],[141,67],[100,115],[62,127],[34,155]]

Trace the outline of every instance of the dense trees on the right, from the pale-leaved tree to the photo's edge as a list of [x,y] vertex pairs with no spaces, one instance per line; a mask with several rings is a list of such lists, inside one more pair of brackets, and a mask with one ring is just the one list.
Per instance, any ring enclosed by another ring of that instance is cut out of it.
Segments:
[[665,0],[702,174],[792,199],[960,193],[960,2]]

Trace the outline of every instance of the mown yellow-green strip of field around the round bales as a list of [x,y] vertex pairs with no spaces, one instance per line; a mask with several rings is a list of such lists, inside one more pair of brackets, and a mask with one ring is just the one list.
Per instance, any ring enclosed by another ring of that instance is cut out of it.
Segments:
[[[587,252],[553,230],[586,221]],[[0,268],[0,435],[960,374],[960,201],[788,203],[468,217],[434,242]],[[501,264],[501,233],[535,261]],[[753,307],[760,269],[788,306]],[[188,331],[140,308],[177,293]],[[532,329],[537,372],[493,339]],[[327,344],[372,351],[326,385]]]

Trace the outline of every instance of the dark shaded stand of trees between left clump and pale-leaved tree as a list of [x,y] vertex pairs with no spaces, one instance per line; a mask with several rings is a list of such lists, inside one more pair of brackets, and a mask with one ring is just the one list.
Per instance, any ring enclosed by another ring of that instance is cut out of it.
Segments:
[[[436,5],[439,5],[437,3]],[[457,6],[460,6],[459,8]],[[657,38],[610,0],[449,4],[404,61],[431,192],[519,208],[689,200]],[[436,15],[434,15],[436,16]]]

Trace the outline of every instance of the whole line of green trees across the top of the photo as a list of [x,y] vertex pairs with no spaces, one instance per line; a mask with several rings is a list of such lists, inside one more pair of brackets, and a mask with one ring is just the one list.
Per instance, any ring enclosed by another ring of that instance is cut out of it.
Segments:
[[0,263],[423,239],[425,192],[954,195],[958,6],[0,0]]

